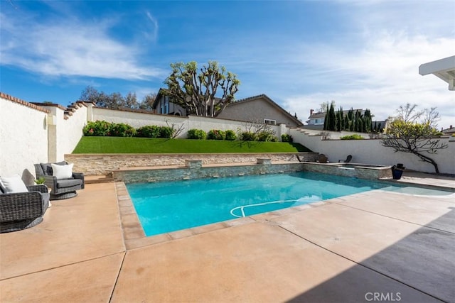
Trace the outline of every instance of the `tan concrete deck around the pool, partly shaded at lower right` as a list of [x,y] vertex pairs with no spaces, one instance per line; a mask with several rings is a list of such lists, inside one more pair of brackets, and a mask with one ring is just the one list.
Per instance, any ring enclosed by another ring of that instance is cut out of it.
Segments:
[[119,190],[87,184],[0,234],[0,302],[455,302],[454,194],[375,190],[129,243]]

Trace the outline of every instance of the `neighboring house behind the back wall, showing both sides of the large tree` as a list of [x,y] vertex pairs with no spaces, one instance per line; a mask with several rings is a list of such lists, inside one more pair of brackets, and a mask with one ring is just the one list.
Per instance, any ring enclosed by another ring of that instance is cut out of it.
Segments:
[[[153,104],[156,114],[186,116],[186,110],[173,104],[164,92],[166,92],[165,89],[159,89]],[[265,94],[234,101],[217,118],[272,125],[286,124],[288,127],[303,126],[299,119],[289,114]]]

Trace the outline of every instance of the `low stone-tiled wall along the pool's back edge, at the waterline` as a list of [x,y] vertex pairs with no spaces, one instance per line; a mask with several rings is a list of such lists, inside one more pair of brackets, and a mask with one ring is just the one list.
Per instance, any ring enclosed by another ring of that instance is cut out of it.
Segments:
[[304,163],[272,164],[269,159],[257,159],[256,165],[230,165],[223,167],[202,167],[201,160],[187,160],[185,167],[162,169],[114,170],[115,180],[125,183],[163,182],[192,180],[213,177],[234,177],[263,175],[284,172],[299,172]]

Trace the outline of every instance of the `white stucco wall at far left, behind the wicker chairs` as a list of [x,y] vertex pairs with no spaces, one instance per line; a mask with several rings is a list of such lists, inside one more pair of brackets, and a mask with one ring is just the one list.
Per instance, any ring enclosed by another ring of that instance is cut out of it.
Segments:
[[0,115],[0,175],[34,175],[48,159],[48,114],[0,97]]

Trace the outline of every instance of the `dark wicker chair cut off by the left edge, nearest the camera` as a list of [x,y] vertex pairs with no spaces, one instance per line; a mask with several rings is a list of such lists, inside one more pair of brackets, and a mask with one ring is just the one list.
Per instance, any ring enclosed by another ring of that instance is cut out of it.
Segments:
[[0,233],[20,231],[43,221],[49,206],[48,187],[33,185],[28,192],[4,193],[0,187]]

